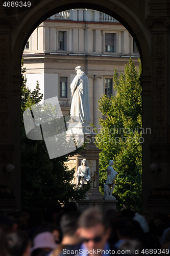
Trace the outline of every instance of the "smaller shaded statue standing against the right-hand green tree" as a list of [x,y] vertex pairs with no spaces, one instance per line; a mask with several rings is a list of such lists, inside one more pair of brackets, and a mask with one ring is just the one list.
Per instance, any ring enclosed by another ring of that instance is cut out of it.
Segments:
[[109,166],[107,167],[107,180],[106,184],[104,184],[104,198],[105,199],[115,199],[112,196],[114,187],[115,187],[115,177],[117,176],[117,172],[113,169],[113,160],[109,161]]

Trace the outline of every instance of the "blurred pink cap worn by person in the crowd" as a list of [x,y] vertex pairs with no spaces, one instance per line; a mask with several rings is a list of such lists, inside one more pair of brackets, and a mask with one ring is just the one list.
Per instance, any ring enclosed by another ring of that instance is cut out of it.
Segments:
[[31,252],[36,249],[46,247],[51,249],[55,249],[57,247],[51,232],[42,232],[37,234],[37,236],[34,238],[34,246],[31,248]]

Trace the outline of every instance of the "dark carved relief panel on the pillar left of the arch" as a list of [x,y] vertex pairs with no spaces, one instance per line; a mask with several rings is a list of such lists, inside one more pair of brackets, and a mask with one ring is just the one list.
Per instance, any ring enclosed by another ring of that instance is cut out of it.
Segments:
[[0,35],[0,141],[9,141],[9,34]]

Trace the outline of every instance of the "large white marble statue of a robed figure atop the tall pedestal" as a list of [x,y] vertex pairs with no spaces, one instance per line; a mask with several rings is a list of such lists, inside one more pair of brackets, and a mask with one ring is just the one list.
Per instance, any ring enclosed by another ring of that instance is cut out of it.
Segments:
[[70,122],[74,122],[76,119],[80,123],[88,124],[90,122],[88,77],[80,66],[76,67],[75,70],[77,75],[70,84],[72,96]]

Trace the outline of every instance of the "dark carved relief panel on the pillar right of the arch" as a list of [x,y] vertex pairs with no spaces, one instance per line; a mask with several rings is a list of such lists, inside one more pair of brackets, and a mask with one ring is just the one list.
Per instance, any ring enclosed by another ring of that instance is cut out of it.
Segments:
[[165,131],[165,34],[154,34],[154,139],[166,139]]

